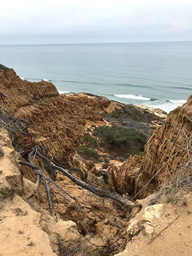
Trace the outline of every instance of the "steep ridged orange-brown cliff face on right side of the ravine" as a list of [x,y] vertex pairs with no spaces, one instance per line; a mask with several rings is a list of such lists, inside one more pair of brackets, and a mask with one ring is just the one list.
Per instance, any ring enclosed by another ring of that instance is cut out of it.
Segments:
[[167,184],[191,157],[192,96],[175,109],[145,145],[145,156],[129,157],[116,175],[121,191],[143,198]]

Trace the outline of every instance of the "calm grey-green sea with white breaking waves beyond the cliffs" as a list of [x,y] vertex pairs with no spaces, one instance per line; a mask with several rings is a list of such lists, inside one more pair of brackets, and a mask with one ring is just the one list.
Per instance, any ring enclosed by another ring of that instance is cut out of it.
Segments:
[[192,42],[1,45],[22,79],[171,111],[192,93]]

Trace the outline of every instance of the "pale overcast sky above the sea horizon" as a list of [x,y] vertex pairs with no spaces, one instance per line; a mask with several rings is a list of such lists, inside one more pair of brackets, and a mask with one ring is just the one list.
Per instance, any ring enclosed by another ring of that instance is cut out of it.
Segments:
[[192,40],[192,0],[6,0],[0,44]]

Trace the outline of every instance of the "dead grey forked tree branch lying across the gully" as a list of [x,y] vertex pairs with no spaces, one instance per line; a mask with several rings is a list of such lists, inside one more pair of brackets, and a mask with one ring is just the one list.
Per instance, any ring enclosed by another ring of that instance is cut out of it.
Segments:
[[[46,155],[42,151],[44,151]],[[36,157],[39,157],[40,159],[43,160],[44,168],[45,168],[45,170],[47,170],[47,172],[49,173],[51,178],[48,177],[47,175],[45,175],[44,170],[40,166],[37,166],[35,164],[34,161],[35,161]],[[65,202],[68,202],[68,199],[65,197],[65,195],[67,195],[70,198],[72,198],[73,200],[75,200],[76,205],[81,209],[84,216],[86,217],[86,214],[83,211],[83,207],[81,206],[81,204],[79,203],[77,198],[73,195],[70,195],[70,193],[65,191],[58,184],[56,184],[56,182],[55,182],[56,171],[67,176],[68,179],[70,179],[72,182],[74,182],[78,186],[81,186],[81,188],[87,189],[88,191],[91,191],[93,194],[95,194],[97,196],[115,200],[116,202],[124,205],[124,208],[127,208],[128,211],[131,211],[132,207],[134,207],[134,203],[131,202],[127,198],[127,196],[122,196],[116,192],[106,191],[104,189],[96,188],[92,184],[85,182],[84,181],[85,178],[84,178],[83,172],[81,170],[76,169],[76,168],[68,168],[67,169],[67,168],[64,168],[63,164],[60,164],[60,163],[58,164],[58,161],[57,162],[52,161],[51,158],[47,157],[47,148],[42,147],[40,144],[35,145],[32,148],[31,152],[28,154],[28,161],[20,161],[19,163],[31,167],[33,169],[33,172],[37,176],[36,188],[30,195],[26,196],[26,198],[30,198],[31,196],[33,196],[33,194],[38,189],[40,182],[42,182],[45,186],[45,191],[47,193],[47,201],[49,204],[49,211],[51,212],[51,215],[55,218],[55,220],[57,220],[57,218],[56,218],[56,211],[54,209],[54,203],[52,200],[52,190],[51,190],[50,185],[52,185],[52,186],[54,186],[54,188],[56,188],[56,190],[62,196],[62,198],[65,200]],[[75,177],[72,174],[72,172],[76,172],[77,175],[79,175],[80,179],[77,179],[77,177]]]

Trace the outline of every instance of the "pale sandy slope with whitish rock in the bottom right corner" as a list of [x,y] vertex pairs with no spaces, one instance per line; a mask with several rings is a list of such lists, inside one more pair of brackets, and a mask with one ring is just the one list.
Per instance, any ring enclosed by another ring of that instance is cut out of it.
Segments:
[[127,228],[131,241],[123,252],[115,256],[191,255],[191,193],[186,194],[177,205],[148,206],[148,201],[149,198],[138,201],[143,208],[129,221]]

